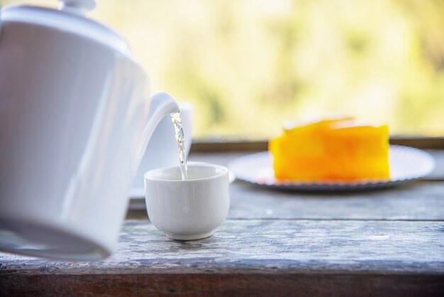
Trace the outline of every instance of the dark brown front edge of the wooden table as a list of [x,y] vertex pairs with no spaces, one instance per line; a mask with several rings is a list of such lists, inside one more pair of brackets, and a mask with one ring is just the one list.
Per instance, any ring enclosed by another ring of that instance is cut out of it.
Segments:
[[1,296],[443,296],[442,275],[8,275]]

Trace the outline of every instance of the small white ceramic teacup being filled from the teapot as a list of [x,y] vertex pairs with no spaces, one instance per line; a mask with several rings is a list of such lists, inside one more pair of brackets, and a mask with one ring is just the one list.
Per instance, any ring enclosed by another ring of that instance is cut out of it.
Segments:
[[179,166],[145,173],[148,217],[171,239],[209,237],[230,208],[228,169],[209,163],[191,163],[182,180]]

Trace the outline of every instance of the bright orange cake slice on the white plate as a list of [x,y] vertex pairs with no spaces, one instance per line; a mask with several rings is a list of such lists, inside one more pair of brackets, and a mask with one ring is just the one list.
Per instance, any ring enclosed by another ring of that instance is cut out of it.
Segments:
[[272,139],[278,180],[387,180],[387,125],[362,124],[350,117],[323,119],[284,129]]

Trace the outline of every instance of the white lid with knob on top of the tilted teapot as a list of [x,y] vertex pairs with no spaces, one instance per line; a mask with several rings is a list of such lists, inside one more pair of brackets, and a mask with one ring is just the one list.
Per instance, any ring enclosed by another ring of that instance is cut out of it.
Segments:
[[59,0],[58,9],[11,5],[1,9],[0,21],[18,21],[69,31],[94,39],[119,52],[130,55],[126,41],[116,31],[85,17],[96,7],[94,0]]

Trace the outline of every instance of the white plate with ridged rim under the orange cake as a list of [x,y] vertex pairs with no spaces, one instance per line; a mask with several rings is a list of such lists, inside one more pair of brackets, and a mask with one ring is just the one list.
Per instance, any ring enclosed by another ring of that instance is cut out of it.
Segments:
[[228,166],[236,178],[267,188],[294,191],[354,191],[389,188],[422,178],[433,171],[435,159],[430,153],[408,146],[390,146],[390,176],[392,180],[360,180],[355,182],[284,182],[274,178],[269,152],[253,153],[236,158]]

